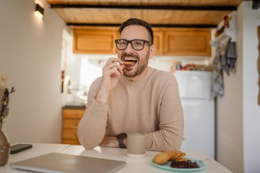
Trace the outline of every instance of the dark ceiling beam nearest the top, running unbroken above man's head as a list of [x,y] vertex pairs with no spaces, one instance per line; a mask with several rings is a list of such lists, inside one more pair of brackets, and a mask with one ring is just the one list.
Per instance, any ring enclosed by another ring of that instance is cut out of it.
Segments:
[[207,10],[207,11],[235,11],[237,6],[227,5],[87,5],[87,4],[51,4],[51,8],[105,8],[127,10]]

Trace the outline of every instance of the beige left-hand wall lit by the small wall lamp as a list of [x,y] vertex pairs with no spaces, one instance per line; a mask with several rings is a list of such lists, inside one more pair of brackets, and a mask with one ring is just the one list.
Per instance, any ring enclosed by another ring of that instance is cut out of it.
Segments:
[[0,72],[8,75],[10,114],[3,131],[16,142],[60,143],[62,19],[46,1],[37,18],[33,0],[0,1]]

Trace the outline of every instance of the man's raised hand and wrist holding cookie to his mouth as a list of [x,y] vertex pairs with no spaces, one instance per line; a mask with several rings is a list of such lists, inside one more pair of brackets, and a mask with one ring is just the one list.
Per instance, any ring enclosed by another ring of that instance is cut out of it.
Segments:
[[102,83],[98,94],[96,94],[96,101],[101,104],[107,104],[109,94],[112,89],[118,84],[120,75],[123,74],[122,68],[124,64],[121,59],[117,57],[110,57],[103,66]]

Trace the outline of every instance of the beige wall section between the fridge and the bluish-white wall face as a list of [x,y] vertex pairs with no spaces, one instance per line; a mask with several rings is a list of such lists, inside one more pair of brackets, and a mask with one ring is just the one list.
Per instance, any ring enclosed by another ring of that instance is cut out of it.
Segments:
[[[238,26],[240,25],[239,23]],[[237,27],[237,35],[241,38],[239,29],[240,27]],[[224,96],[217,98],[216,107],[216,159],[237,173],[243,172],[243,59],[239,44],[241,41],[237,41],[236,71],[229,76],[223,72]]]

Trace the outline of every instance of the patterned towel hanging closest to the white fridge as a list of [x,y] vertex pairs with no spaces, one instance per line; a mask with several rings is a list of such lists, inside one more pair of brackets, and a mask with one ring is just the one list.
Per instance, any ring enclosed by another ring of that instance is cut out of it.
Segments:
[[224,95],[224,85],[222,77],[222,69],[220,62],[220,48],[216,50],[216,57],[214,58],[212,64],[212,77],[211,77],[211,96],[223,96]]

